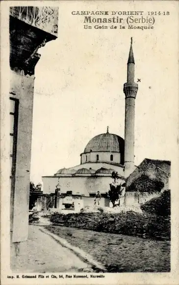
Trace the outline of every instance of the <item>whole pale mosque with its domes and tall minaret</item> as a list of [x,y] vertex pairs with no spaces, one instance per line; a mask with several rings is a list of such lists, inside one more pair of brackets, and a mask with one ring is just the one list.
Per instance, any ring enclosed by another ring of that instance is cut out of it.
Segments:
[[[112,182],[113,171],[118,172],[119,183],[125,185],[130,174],[135,172],[136,168],[139,169],[140,166],[134,165],[135,98],[138,90],[138,85],[134,82],[134,68],[131,38],[127,83],[123,89],[126,99],[125,140],[116,134],[110,134],[107,127],[106,133],[95,136],[87,143],[80,154],[80,165],[60,169],[53,176],[42,177],[44,194],[54,193],[55,188],[60,188],[60,193],[72,191],[74,195],[87,197],[94,197],[97,191],[100,191],[105,198]],[[141,165],[146,165],[146,161]]]

